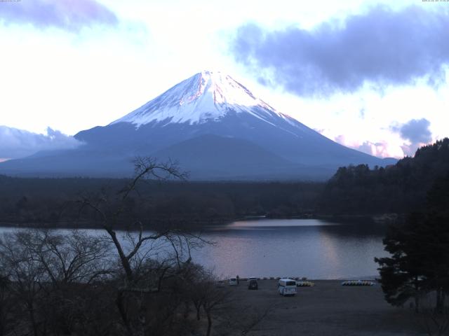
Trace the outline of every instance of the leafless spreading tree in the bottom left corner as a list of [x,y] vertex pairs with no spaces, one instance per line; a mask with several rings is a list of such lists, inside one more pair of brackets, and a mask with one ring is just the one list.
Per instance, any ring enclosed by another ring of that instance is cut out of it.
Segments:
[[73,330],[81,286],[111,273],[108,250],[104,239],[78,231],[22,230],[0,239],[8,293],[25,307],[34,335]]

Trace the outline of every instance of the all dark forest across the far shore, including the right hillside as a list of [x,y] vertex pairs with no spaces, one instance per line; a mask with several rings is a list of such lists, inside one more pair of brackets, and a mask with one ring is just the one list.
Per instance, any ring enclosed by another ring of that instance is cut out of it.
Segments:
[[[250,216],[319,218],[406,214],[425,207],[426,193],[449,172],[449,139],[419,148],[396,165],[340,167],[326,183],[309,181],[140,181],[127,200],[129,216],[154,225],[213,225]],[[0,223],[89,228],[83,198],[113,200],[129,179],[24,179],[0,176]],[[123,223],[126,225],[126,223]]]

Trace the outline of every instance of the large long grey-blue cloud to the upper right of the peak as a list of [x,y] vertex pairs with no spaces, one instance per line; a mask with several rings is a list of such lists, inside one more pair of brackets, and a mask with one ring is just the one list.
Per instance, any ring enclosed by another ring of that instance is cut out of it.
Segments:
[[236,31],[230,50],[260,83],[301,96],[354,92],[364,83],[401,85],[445,80],[449,10],[384,7],[325,22],[315,29],[267,31],[255,24]]

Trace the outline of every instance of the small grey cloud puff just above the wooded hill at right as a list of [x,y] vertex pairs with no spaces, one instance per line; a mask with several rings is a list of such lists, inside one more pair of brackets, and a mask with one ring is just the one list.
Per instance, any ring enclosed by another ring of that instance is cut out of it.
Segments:
[[406,155],[414,155],[417,148],[431,143],[432,133],[430,122],[426,118],[411,119],[405,124],[391,125],[390,130],[398,133],[402,139],[408,141],[401,148]]

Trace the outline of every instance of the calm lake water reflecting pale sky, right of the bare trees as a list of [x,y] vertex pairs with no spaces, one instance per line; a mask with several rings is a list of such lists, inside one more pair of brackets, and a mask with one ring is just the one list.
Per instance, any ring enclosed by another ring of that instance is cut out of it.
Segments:
[[[0,228],[1,232],[11,228]],[[66,231],[66,230],[64,230]],[[101,230],[88,230],[100,234]],[[384,227],[316,219],[257,219],[213,227],[203,237],[215,241],[192,253],[195,262],[220,277],[307,276],[360,279],[377,276],[374,257],[383,250]]]

